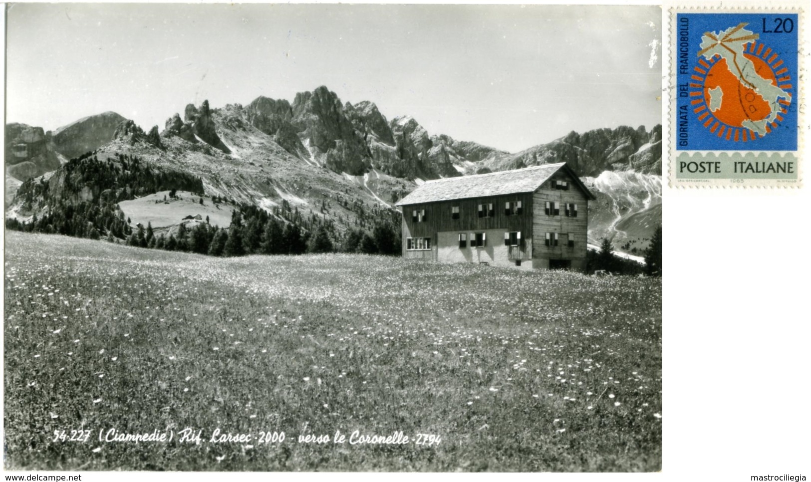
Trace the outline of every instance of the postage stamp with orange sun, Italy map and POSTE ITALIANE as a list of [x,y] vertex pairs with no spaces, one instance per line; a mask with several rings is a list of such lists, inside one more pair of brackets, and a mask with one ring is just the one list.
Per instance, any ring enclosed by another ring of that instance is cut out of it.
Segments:
[[672,186],[801,185],[804,15],[763,5],[670,9]]

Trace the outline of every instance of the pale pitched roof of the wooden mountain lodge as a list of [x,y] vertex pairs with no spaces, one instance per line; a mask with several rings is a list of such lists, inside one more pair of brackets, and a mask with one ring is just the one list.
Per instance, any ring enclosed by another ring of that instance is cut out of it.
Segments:
[[569,171],[578,186],[590,199],[594,195],[589,192],[577,174],[566,166],[565,162],[556,164],[543,164],[541,166],[526,167],[517,170],[502,170],[489,174],[461,176],[458,178],[444,178],[427,181],[418,186],[408,196],[397,201],[395,205],[431,203],[443,200],[470,199],[474,197],[503,196],[520,192],[534,192],[547,182],[558,170],[564,168]]

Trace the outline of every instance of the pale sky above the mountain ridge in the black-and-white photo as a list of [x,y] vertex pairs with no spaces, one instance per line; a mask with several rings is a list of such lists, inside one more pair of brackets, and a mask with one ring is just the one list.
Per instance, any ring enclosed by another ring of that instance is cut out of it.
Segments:
[[659,6],[14,4],[6,122],[113,110],[144,130],[208,99],[320,85],[429,134],[517,152],[660,123]]

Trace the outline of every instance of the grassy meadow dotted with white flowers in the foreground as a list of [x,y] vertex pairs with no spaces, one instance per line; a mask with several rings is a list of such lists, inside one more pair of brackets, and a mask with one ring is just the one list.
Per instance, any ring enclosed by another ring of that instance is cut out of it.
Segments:
[[4,273],[7,468],[661,469],[660,278],[12,231]]

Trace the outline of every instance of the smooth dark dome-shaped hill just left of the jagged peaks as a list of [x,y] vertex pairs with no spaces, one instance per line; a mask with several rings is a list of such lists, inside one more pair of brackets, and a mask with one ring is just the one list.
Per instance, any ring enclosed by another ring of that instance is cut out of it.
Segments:
[[113,140],[116,127],[126,120],[115,112],[80,118],[54,131],[54,149],[68,159],[79,157]]

